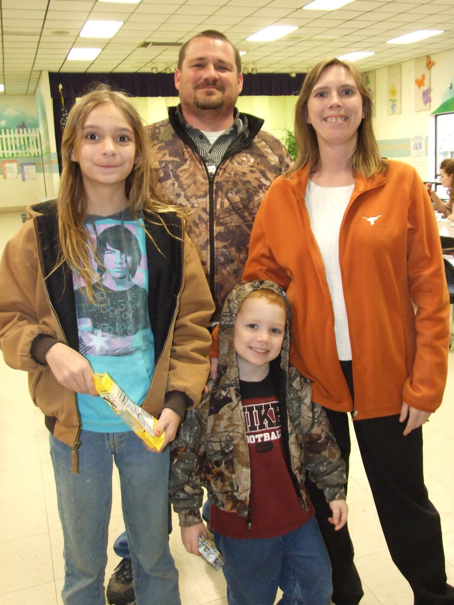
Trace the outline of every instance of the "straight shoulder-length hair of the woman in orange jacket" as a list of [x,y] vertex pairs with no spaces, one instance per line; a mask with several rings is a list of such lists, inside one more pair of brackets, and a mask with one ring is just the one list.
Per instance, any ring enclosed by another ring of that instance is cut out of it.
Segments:
[[373,134],[372,94],[369,88],[367,88],[363,74],[361,74],[354,64],[349,61],[333,58],[326,59],[315,65],[304,78],[303,87],[295,106],[295,140],[298,146],[298,157],[292,168],[286,172],[286,176],[291,176],[303,166],[309,165],[315,168],[320,163],[317,133],[314,126],[308,123],[308,100],[312,89],[320,79],[323,71],[328,67],[332,67],[332,65],[341,65],[341,67],[345,67],[352,74],[363,100],[364,117],[358,127],[357,148],[351,158],[352,172],[355,177],[357,174],[361,174],[366,178],[372,177],[377,173],[384,174],[387,170],[387,163],[381,157],[380,151],[378,151],[377,140]]

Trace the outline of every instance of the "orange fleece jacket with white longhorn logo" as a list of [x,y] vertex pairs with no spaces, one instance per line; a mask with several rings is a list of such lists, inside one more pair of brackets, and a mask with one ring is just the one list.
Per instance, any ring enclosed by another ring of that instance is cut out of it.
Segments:
[[[291,363],[311,379],[316,403],[354,411],[358,420],[398,414],[403,401],[435,411],[447,374],[449,296],[421,178],[393,160],[384,176],[358,177],[341,224],[355,405],[338,361],[331,295],[304,203],[308,178],[306,167],[272,183],[252,228],[243,280],[272,280],[286,289]],[[378,218],[367,220],[372,217]]]

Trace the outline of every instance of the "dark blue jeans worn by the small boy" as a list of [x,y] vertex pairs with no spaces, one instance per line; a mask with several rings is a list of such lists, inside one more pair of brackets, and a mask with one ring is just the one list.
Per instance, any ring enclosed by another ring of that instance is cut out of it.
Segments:
[[[334,529],[333,529],[334,531]],[[237,540],[214,534],[224,555],[228,605],[328,605],[331,563],[312,518],[301,528],[277,538]]]

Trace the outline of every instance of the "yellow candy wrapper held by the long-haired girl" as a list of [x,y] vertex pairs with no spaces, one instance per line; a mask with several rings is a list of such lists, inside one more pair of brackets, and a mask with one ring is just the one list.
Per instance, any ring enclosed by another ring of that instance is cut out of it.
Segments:
[[132,428],[137,437],[140,437],[148,447],[159,451],[165,439],[165,431],[162,431],[159,436],[154,434],[157,419],[134,404],[106,372],[102,374],[95,372],[93,379],[100,397],[107,401],[128,427]]

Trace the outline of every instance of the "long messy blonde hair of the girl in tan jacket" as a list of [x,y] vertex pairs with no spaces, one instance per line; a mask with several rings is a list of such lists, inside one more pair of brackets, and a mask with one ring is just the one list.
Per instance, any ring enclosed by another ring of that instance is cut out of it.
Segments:
[[102,258],[98,258],[96,242],[84,228],[87,214],[87,193],[84,188],[81,167],[79,163],[71,160],[71,155],[74,153],[77,157],[85,120],[88,114],[101,103],[113,103],[125,116],[134,132],[136,163],[125,183],[126,195],[133,217],[137,218],[140,212],[144,214],[151,212],[159,221],[161,212],[183,214],[155,191],[150,162],[150,139],[143,126],[142,118],[127,96],[112,90],[108,85],[99,84],[90,93],[81,97],[71,108],[62,138],[62,174],[57,199],[60,250],[56,267],[67,263],[70,269],[85,282],[87,296],[91,302],[96,302],[93,294],[93,282],[98,279],[91,264],[91,254],[94,255],[97,264],[102,264]]

